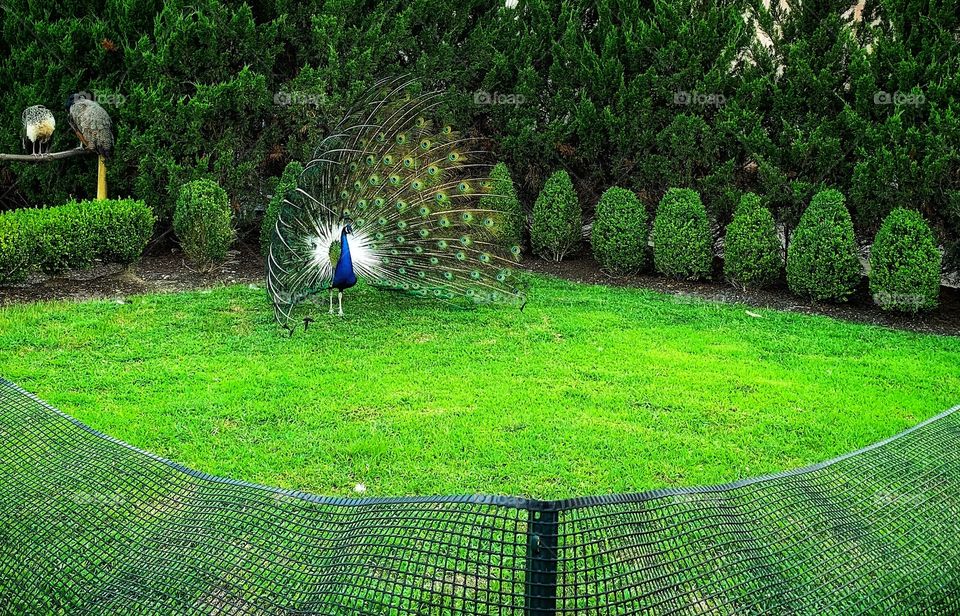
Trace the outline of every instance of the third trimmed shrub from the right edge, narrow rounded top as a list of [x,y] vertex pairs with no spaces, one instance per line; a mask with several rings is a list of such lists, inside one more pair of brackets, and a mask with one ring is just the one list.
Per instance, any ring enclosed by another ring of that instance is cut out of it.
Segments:
[[758,288],[780,278],[783,247],[777,226],[754,193],[740,198],[723,246],[723,273],[733,284]]

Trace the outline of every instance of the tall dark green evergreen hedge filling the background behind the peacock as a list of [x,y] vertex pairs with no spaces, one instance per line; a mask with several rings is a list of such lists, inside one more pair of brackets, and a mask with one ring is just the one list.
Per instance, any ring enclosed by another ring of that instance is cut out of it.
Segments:
[[[862,235],[922,203],[960,255],[954,3],[867,3],[854,26],[849,0],[787,6],[9,0],[0,125],[43,103],[62,127],[54,150],[73,147],[62,101],[95,93],[117,127],[113,192],[168,224],[177,188],[212,177],[243,223],[375,77],[407,73],[448,89],[438,119],[489,137],[525,198],[564,168],[590,202],[612,185],[648,206],[696,189],[721,226],[752,190],[792,229],[835,186]],[[0,151],[18,147],[0,131]],[[90,195],[93,177],[83,157],[5,166],[0,209]]]

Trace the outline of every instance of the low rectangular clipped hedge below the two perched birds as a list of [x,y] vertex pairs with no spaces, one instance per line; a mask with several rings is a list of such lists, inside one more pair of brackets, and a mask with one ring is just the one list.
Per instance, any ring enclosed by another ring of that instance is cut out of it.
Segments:
[[87,268],[94,259],[134,263],[153,224],[150,208],[133,199],[5,212],[0,214],[0,283],[22,281],[34,269],[57,274]]

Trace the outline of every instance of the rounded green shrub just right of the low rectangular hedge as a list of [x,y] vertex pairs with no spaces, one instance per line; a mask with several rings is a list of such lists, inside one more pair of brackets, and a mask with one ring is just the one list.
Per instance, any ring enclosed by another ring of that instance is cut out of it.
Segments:
[[184,184],[173,212],[173,232],[183,252],[201,270],[222,263],[233,242],[227,193],[212,180]]

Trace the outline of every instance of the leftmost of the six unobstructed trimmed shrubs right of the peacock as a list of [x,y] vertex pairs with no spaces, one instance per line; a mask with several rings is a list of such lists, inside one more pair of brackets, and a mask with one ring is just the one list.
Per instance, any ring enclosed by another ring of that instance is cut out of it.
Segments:
[[533,205],[530,243],[537,254],[560,261],[575,250],[583,239],[580,201],[566,171],[557,171],[547,179]]

